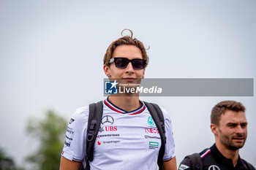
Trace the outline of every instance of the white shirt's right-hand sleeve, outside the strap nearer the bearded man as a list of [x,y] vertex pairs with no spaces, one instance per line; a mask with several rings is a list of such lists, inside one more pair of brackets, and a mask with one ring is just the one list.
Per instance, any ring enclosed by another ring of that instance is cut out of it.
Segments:
[[165,111],[165,109],[162,109],[162,113],[165,117],[165,136],[166,136],[166,144],[165,144],[165,155],[164,155],[164,161],[169,161],[173,157],[175,157],[175,144],[173,139],[173,127],[172,123],[170,121],[170,117]]

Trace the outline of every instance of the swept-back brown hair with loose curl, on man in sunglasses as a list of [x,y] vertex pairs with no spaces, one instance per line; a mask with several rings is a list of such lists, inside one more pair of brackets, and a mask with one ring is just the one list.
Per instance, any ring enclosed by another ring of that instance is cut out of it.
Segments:
[[[120,45],[134,45],[140,49],[142,58],[146,60],[146,66],[147,66],[148,65],[148,55],[146,53],[146,49],[143,45],[143,42],[140,42],[140,40],[132,37],[132,35],[133,35],[132,30],[124,29],[123,31],[126,31],[126,30],[130,31],[131,35],[130,36],[122,36],[121,38],[116,39],[116,41],[113,41],[110,44],[110,46],[108,47],[108,49],[105,53],[105,56],[103,58],[103,64],[109,66],[110,58],[112,58],[114,50],[116,50],[116,47],[118,47]],[[121,31],[121,35],[122,35],[123,31]]]

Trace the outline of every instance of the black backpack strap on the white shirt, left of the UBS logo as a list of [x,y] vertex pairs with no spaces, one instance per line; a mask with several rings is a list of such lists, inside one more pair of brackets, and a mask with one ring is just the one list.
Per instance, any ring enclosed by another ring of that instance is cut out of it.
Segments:
[[86,136],[86,170],[90,169],[89,161],[94,160],[94,143],[97,138],[100,123],[102,122],[102,112],[102,101],[97,102],[97,104],[89,105],[89,117]]

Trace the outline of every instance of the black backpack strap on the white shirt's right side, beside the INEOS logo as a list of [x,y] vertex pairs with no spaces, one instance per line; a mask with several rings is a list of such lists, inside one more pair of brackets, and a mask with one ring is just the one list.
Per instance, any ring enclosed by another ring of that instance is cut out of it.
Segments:
[[146,107],[148,108],[148,111],[150,112],[154,120],[154,123],[156,123],[159,131],[159,135],[161,137],[162,144],[159,150],[157,162],[158,162],[159,169],[162,170],[164,165],[163,157],[165,155],[165,144],[166,144],[165,118],[164,118],[164,115],[162,114],[162,110],[157,104],[148,103],[146,101],[143,101],[143,102],[144,104],[146,104]]

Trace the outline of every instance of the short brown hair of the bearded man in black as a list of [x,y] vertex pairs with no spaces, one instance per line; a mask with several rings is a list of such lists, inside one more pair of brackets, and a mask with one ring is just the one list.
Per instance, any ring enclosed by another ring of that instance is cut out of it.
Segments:
[[211,123],[219,125],[220,115],[224,114],[226,110],[245,112],[245,107],[238,101],[221,101],[211,110]]

